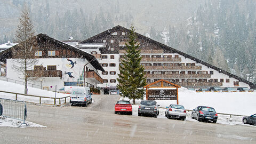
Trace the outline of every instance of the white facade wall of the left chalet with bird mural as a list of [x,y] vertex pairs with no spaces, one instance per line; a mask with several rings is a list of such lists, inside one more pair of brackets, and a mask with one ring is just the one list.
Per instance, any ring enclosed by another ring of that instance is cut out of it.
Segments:
[[[64,82],[77,82],[77,79],[79,78],[79,75],[81,75],[83,73],[83,68],[84,65],[86,65],[86,63],[88,63],[88,61],[86,59],[78,59],[78,58],[70,58],[70,60],[72,60],[73,62],[76,62],[76,64],[74,65],[73,68],[71,68],[71,65],[69,65],[70,61],[68,61],[66,58],[43,58],[43,59],[38,59],[38,63],[36,66],[40,66],[42,65],[43,67],[46,68],[47,70],[47,66],[56,66],[57,70],[61,70],[62,71],[62,77],[41,77],[38,78],[37,81],[34,81],[33,83],[37,84],[37,85],[41,85],[41,81],[42,81],[42,87],[48,87],[49,90],[51,91],[55,91],[55,85],[57,85],[57,90],[60,89],[60,87],[64,86]],[[17,63],[15,63],[15,61],[13,61],[13,59],[7,59],[6,61],[6,77],[7,78],[11,78],[11,79],[15,79],[18,81],[23,81],[22,75],[18,74],[17,71],[15,71],[12,66],[16,65]],[[87,64],[86,67],[88,67],[88,69],[97,71],[97,69],[95,69],[91,63]],[[30,68],[28,70],[34,70],[33,68]],[[68,74],[65,74],[70,72],[71,76],[73,77],[69,77]],[[92,85],[97,86],[97,83],[91,81],[89,78],[86,78],[86,82],[90,83]],[[32,83],[32,82],[29,82]],[[47,89],[47,88],[45,88]]]

